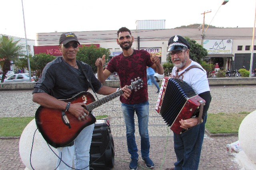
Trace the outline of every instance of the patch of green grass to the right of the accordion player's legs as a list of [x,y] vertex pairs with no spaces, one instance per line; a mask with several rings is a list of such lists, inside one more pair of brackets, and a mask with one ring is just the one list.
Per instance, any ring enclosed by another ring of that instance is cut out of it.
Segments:
[[248,112],[241,112],[237,114],[208,113],[205,127],[211,134],[238,134],[240,124],[248,114]]

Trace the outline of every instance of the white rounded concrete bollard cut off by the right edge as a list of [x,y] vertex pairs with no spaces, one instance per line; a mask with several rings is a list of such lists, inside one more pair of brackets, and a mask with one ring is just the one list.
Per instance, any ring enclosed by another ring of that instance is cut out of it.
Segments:
[[242,121],[239,130],[238,138],[240,146],[244,150],[246,156],[256,164],[256,111],[247,115]]

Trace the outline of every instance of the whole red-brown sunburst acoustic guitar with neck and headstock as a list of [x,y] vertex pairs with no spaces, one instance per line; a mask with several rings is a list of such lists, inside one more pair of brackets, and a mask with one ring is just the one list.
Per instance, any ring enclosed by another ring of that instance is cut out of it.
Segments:
[[[135,79],[132,81],[131,85],[128,86],[129,89],[140,89],[142,87],[143,80]],[[96,118],[92,115],[92,110],[96,107],[111,101],[112,99],[123,94],[122,90],[116,91],[102,99],[95,101],[94,96],[89,92],[80,92],[70,99],[65,99],[62,101],[72,103],[84,102],[84,108],[89,111],[87,119],[85,121],[79,121],[71,113],[64,112],[59,109],[52,109],[47,107],[38,107],[35,115],[36,126],[43,138],[51,146],[58,148],[64,147],[70,144],[78,134],[83,130],[83,128],[92,125],[96,122]]]

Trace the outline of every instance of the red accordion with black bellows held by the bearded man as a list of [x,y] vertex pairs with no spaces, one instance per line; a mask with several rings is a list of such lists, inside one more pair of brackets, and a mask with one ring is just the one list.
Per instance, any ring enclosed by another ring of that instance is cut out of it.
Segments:
[[181,119],[195,116],[201,123],[204,103],[185,81],[164,77],[155,109],[174,133],[181,134],[188,130],[180,127]]

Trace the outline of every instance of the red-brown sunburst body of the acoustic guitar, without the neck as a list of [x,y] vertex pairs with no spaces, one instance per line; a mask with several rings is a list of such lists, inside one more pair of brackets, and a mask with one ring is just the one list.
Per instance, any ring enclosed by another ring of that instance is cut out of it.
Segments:
[[[63,100],[72,103],[85,103],[86,105],[95,101],[89,92],[81,92],[71,99]],[[96,118],[91,114],[85,121],[79,121],[74,115],[65,112],[70,127],[62,119],[62,111],[47,107],[38,107],[35,115],[36,126],[48,144],[53,147],[64,147],[70,144],[78,134],[87,126],[96,122]]]

